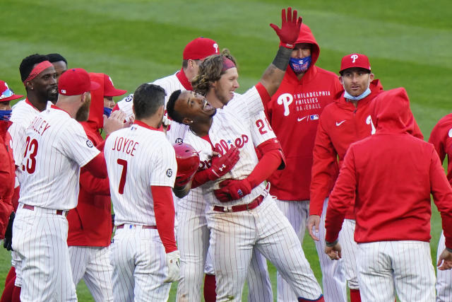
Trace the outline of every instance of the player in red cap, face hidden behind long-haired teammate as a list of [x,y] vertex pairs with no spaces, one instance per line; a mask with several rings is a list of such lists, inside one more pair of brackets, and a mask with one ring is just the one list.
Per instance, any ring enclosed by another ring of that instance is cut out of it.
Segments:
[[[207,37],[197,37],[189,42],[185,46],[182,54],[182,68],[171,76],[165,76],[165,78],[152,82],[165,89],[167,93],[165,95],[165,105],[168,102],[169,95],[174,91],[179,89],[182,91],[193,90],[190,82],[198,74],[199,64],[211,54],[218,53],[220,53],[218,43]],[[127,95],[126,98],[120,100],[113,108],[113,110],[124,111],[127,115],[127,121],[133,116],[132,100],[133,94]]]

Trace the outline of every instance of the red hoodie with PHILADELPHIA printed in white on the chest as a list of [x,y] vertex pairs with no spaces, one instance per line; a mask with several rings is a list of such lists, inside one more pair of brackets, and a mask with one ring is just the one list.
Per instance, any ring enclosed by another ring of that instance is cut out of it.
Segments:
[[[311,43],[311,66],[301,80],[287,67],[284,79],[266,104],[266,114],[278,137],[287,165],[270,176],[270,194],[282,200],[308,200],[312,149],[319,116],[343,88],[338,76],[315,66],[320,48],[307,25],[297,43]],[[287,105],[285,105],[287,104]]]

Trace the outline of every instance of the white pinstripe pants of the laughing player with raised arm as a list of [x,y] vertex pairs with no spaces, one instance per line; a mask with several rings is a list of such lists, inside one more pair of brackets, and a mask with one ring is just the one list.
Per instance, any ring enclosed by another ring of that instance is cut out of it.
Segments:
[[275,265],[297,297],[315,300],[321,296],[297,234],[272,197],[249,211],[209,210],[207,221],[217,301],[241,301],[254,248]]

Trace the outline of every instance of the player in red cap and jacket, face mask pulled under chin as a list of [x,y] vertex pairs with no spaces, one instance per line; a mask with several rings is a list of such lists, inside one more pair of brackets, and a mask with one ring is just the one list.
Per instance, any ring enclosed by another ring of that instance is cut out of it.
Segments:
[[[324,223],[328,193],[337,177],[337,169],[343,163],[348,146],[369,137],[375,132],[370,116],[370,104],[383,91],[379,80],[371,73],[369,59],[364,54],[347,54],[340,64],[340,82],[344,91],[335,95],[335,102],[327,105],[319,119],[314,144],[314,161],[311,179],[311,203],[309,206],[308,231],[317,245],[324,249]],[[414,119],[413,119],[414,121]],[[415,135],[422,138],[415,124]],[[313,230],[314,227],[314,230]],[[343,231],[345,278],[352,301],[359,301],[359,284],[356,272],[357,245],[352,240],[355,216],[347,212]]]

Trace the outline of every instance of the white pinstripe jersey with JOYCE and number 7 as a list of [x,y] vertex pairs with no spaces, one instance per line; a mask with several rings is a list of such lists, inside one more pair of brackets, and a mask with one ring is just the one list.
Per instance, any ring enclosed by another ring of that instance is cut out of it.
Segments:
[[150,186],[173,187],[177,163],[165,134],[136,122],[105,142],[114,223],[155,226]]

